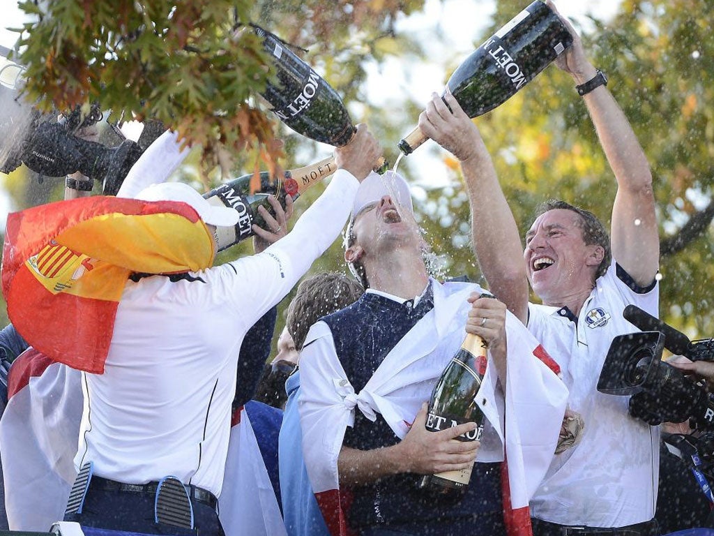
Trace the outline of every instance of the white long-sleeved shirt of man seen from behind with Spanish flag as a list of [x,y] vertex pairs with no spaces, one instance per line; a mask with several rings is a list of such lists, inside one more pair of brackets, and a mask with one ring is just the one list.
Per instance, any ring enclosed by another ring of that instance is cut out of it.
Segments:
[[94,462],[95,475],[131,484],[172,475],[219,495],[243,337],[338,236],[357,187],[338,170],[261,254],[175,281],[129,281],[105,372],[82,378],[75,465]]

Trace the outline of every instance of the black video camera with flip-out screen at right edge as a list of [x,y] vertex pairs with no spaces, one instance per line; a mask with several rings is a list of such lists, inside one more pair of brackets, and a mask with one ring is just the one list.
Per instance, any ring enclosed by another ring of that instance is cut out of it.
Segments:
[[710,351],[713,340],[690,342],[681,332],[633,305],[625,308],[623,315],[640,329],[650,330],[613,339],[600,371],[598,391],[632,395],[630,416],[649,425],[690,420],[695,427],[714,429],[714,396],[703,384],[662,361],[665,348],[693,361],[714,360]]

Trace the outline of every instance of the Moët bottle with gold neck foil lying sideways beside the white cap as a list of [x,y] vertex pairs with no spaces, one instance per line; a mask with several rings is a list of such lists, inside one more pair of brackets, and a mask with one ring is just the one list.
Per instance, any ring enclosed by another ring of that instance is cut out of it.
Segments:
[[218,207],[231,207],[241,214],[238,223],[233,227],[218,227],[218,251],[252,237],[253,224],[265,227],[265,220],[258,213],[258,207],[262,205],[268,209],[268,212],[274,214],[273,207],[268,202],[269,196],[276,196],[284,205],[286,196],[289,195],[293,200],[297,199],[308,187],[329,177],[336,170],[334,159],[327,158],[306,167],[288,170],[283,177],[271,177],[269,172],[261,172],[261,186],[257,192],[251,193],[250,184],[253,175],[248,174],[203,194],[209,203]]

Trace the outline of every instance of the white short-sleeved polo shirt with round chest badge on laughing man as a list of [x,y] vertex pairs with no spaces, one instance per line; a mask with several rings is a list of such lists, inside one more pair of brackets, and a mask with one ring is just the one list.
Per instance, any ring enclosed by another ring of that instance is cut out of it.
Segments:
[[565,308],[528,306],[528,329],[560,365],[568,407],[585,421],[580,443],[555,455],[531,500],[531,515],[540,520],[623,527],[655,514],[659,427],[628,417],[630,397],[597,390],[613,337],[639,331],[623,319],[625,306],[658,316],[658,284],[635,292],[619,270],[623,279],[615,262],[598,278],[578,319]]

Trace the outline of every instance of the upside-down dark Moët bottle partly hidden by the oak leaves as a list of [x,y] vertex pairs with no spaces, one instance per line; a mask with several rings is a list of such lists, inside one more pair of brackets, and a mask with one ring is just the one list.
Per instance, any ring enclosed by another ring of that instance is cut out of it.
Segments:
[[[337,91],[278,37],[260,26],[253,26],[253,30],[271,54],[270,68],[278,78],[277,84],[268,82],[262,93],[273,106],[273,113],[298,134],[316,142],[336,147],[348,144],[355,126]],[[383,158],[375,169],[386,169]]]

